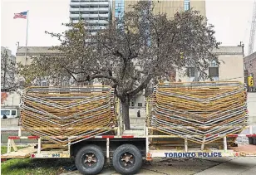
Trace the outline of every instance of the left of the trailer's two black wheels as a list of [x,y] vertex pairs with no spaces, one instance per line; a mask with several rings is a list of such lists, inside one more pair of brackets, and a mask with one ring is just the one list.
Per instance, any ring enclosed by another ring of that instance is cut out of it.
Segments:
[[102,149],[96,145],[88,145],[76,153],[76,168],[82,174],[100,173],[105,163]]

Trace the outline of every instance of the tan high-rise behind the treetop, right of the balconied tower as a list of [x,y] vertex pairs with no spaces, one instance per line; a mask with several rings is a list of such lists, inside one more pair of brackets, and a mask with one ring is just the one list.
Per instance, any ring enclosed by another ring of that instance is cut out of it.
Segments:
[[[125,1],[125,12],[131,10],[130,5],[134,5],[139,0]],[[174,17],[176,12],[183,12],[193,8],[198,10],[202,16],[206,16],[205,0],[151,0],[155,3],[154,13],[166,13],[167,17]],[[114,4],[114,3],[113,3]],[[116,8],[115,8],[116,9]]]

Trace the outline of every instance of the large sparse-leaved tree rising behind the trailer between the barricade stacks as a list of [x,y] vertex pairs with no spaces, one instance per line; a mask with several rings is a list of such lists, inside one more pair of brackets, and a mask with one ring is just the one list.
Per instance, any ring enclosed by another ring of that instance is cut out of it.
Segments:
[[37,68],[56,85],[63,78],[80,83],[107,80],[121,100],[126,129],[130,129],[130,99],[152,80],[191,65],[204,79],[209,61],[219,64],[211,52],[219,46],[213,26],[207,26],[199,12],[177,12],[169,19],[164,13],[155,15],[153,8],[151,2],[138,2],[133,11],[110,22],[96,36],[82,21],[67,24],[70,30],[50,33],[62,42],[52,47],[60,55],[34,59],[25,73]]

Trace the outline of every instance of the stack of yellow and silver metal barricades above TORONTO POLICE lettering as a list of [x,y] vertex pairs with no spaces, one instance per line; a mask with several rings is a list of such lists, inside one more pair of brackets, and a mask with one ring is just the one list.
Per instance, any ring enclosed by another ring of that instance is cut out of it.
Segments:
[[239,134],[248,125],[246,98],[239,82],[159,84],[148,121],[161,133],[188,137],[192,143],[214,143],[220,140],[216,135]]

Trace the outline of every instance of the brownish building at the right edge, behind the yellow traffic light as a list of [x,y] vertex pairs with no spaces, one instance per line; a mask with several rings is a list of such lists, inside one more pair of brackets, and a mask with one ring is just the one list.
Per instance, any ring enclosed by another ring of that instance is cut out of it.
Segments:
[[[256,52],[252,53],[249,56],[244,57],[244,70],[245,70],[245,75],[253,75],[254,76],[254,89],[256,89]],[[246,77],[245,77],[245,80]]]

